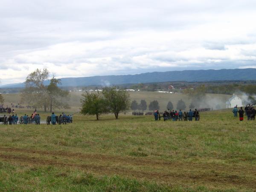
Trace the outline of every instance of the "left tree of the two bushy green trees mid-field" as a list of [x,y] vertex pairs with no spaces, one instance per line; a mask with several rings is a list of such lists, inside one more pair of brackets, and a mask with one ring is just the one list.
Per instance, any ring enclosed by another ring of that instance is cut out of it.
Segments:
[[98,92],[86,92],[82,94],[81,99],[81,113],[84,115],[96,115],[96,119],[99,120],[99,115],[107,113],[107,102],[103,95]]

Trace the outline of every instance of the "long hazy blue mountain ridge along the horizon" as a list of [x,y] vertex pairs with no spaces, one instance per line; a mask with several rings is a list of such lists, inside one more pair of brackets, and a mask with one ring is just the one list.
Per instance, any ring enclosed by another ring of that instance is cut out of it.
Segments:
[[[256,69],[184,70],[141,73],[136,75],[62,78],[62,86],[118,85],[166,81],[226,81],[256,80]],[[49,84],[46,81],[45,84]],[[1,88],[24,87],[24,83],[3,85]]]

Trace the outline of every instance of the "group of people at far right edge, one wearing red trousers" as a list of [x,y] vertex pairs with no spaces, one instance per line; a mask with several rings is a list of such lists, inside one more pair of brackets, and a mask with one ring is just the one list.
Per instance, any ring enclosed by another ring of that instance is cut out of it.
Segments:
[[237,114],[239,114],[239,120],[243,121],[244,120],[244,113],[245,116],[247,116],[247,120],[255,120],[255,115],[256,115],[256,110],[252,105],[246,105],[244,110],[243,107],[240,107],[238,110],[237,105],[233,108],[232,110],[234,117],[237,117]]

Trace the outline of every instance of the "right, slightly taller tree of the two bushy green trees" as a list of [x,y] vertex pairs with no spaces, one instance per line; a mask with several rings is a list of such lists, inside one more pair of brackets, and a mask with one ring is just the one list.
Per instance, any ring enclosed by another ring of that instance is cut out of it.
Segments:
[[116,119],[118,119],[120,112],[130,108],[130,95],[126,90],[116,90],[116,87],[105,87],[102,94],[108,102],[109,111],[115,114]]

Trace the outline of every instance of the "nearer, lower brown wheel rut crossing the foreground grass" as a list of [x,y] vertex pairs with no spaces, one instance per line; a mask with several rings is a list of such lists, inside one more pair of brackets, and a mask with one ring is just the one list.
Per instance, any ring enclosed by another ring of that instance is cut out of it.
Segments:
[[187,183],[189,182],[204,182],[204,183],[215,183],[215,185],[231,184],[231,185],[246,185],[250,186],[253,189],[256,189],[255,182],[247,182],[246,180],[240,180],[239,177],[231,175],[230,177],[220,177],[213,175],[187,175],[184,174],[164,174],[158,172],[145,172],[145,171],[135,171],[128,169],[119,169],[117,167],[111,166],[94,166],[87,164],[73,164],[73,163],[62,163],[57,162],[56,160],[43,160],[35,157],[26,157],[26,156],[15,156],[15,155],[3,155],[0,154],[0,159],[8,162],[19,162],[21,164],[32,164],[38,166],[61,166],[61,167],[73,167],[85,169],[86,171],[91,171],[98,174],[105,175],[123,175],[128,177],[147,179],[147,180],[156,180],[156,181],[176,181],[184,180]]

